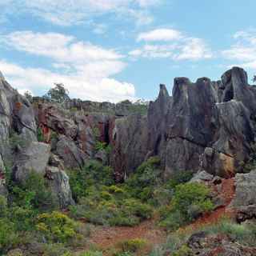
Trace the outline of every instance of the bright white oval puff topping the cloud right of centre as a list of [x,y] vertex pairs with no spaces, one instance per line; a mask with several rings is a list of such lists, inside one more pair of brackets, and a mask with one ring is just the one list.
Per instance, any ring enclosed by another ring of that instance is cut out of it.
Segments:
[[158,29],[139,34],[137,41],[174,41],[180,38],[182,38],[182,33],[178,30]]

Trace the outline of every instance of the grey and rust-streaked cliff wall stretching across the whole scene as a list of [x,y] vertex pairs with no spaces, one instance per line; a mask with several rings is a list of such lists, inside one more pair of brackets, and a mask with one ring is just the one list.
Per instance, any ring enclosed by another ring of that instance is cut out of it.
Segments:
[[[58,104],[36,98],[31,104],[1,75],[0,191],[7,164],[18,182],[37,169],[50,177],[56,198],[66,206],[72,198],[64,169],[82,168],[90,158],[113,166],[117,181],[153,155],[161,158],[166,176],[179,170],[234,176],[254,143],[255,100],[255,87],[238,67],[218,82],[175,78],[172,96],[160,85],[146,114],[145,106],[130,102]],[[26,145],[15,146],[14,134]]]

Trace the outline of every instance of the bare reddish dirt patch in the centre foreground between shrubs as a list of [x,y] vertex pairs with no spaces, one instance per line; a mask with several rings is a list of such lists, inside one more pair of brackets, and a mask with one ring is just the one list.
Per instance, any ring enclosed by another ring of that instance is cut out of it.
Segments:
[[165,242],[166,232],[156,226],[154,220],[145,221],[138,226],[104,227],[98,226],[92,231],[90,241],[100,248],[110,248],[127,239],[142,238],[150,246]]

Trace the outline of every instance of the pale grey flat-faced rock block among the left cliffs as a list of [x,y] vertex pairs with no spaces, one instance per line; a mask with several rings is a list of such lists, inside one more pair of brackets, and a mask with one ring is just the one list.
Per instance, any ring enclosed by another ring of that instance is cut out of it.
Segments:
[[50,146],[42,142],[31,142],[30,146],[23,149],[14,160],[14,178],[24,182],[31,172],[46,174],[46,166],[50,157]]

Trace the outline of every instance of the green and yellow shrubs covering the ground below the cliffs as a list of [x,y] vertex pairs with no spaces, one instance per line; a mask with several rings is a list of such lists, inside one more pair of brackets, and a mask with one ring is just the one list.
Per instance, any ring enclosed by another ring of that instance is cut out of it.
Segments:
[[[86,162],[82,170],[69,170],[76,204],[66,213],[58,211],[51,190],[38,174],[31,173],[23,184],[7,178],[8,200],[0,198],[0,254],[22,248],[27,251],[24,255],[70,256],[74,248],[88,242],[89,224],[84,222],[136,226],[156,216],[157,225],[173,231],[213,209],[210,190],[188,182],[190,171],[179,172],[164,182],[157,157],[143,162],[122,184],[114,181],[113,173],[110,166],[97,161]],[[175,241],[174,255],[189,255],[183,240]],[[140,254],[145,246],[143,239],[126,240],[118,243],[111,255]],[[102,252],[88,249],[78,255],[101,256]]]

